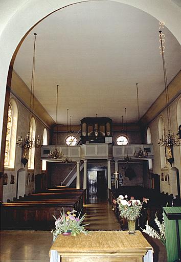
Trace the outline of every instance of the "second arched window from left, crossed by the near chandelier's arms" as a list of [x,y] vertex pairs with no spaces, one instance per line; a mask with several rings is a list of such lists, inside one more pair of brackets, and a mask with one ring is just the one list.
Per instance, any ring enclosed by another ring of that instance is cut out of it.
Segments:
[[[36,123],[34,117],[31,118],[30,121],[30,137],[32,140],[35,141],[36,139]],[[31,148],[29,150],[28,155],[28,169],[34,169],[34,163],[35,163],[35,148]]]

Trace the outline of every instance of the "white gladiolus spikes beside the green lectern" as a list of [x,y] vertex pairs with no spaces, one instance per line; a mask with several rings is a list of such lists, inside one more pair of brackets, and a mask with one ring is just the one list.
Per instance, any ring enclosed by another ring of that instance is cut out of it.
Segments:
[[154,219],[156,226],[159,228],[159,232],[157,232],[155,229],[153,229],[152,227],[150,227],[148,225],[148,221],[146,222],[146,228],[142,229],[142,231],[146,234],[148,234],[149,236],[151,236],[152,238],[157,238],[159,239],[162,244],[164,244],[164,246],[166,246],[166,238],[165,238],[165,222],[164,222],[164,214],[163,214],[163,222],[161,223],[155,213],[155,219]]

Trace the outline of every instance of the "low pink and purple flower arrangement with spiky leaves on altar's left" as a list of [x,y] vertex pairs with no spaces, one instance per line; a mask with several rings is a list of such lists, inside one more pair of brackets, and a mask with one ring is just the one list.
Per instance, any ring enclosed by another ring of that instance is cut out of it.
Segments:
[[85,214],[80,217],[81,212],[76,217],[76,210],[67,211],[66,214],[63,210],[63,213],[60,212],[60,216],[58,219],[53,215],[55,221],[55,229],[52,229],[53,233],[53,243],[59,234],[64,235],[72,235],[76,236],[81,232],[84,234],[88,234],[88,230],[84,229],[85,226],[89,225],[81,225],[82,221],[85,219]]

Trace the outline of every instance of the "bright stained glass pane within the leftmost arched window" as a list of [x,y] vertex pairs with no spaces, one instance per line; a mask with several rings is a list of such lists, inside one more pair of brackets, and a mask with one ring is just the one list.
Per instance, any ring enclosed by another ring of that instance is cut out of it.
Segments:
[[10,140],[11,140],[11,128],[12,128],[12,108],[9,105],[8,108],[8,122],[6,131],[6,146],[5,146],[5,166],[9,165],[9,152],[10,152]]

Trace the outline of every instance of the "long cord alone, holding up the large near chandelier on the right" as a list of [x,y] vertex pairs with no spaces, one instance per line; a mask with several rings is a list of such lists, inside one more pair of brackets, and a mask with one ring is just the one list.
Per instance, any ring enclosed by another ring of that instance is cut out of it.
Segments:
[[171,127],[170,106],[169,106],[170,102],[169,102],[168,82],[167,82],[167,74],[166,74],[166,67],[165,67],[163,35],[162,35],[161,30],[159,31],[159,33],[160,33],[161,54],[162,54],[162,63],[163,63],[163,71],[164,71],[164,84],[165,84],[165,97],[166,97],[166,105],[167,105],[168,129],[171,130],[172,127]]

